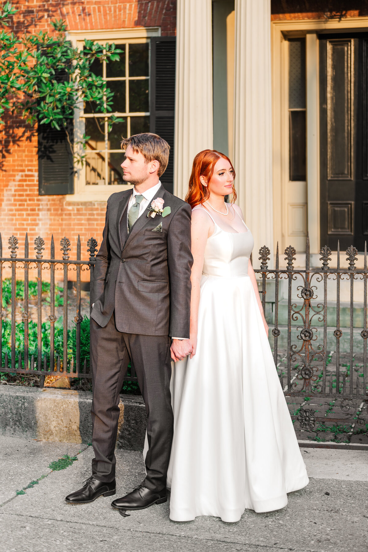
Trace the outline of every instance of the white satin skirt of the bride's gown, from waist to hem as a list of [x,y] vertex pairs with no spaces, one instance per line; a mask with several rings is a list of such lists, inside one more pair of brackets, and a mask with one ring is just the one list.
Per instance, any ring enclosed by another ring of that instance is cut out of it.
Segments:
[[202,277],[198,328],[173,363],[170,519],[282,508],[308,476],[250,278]]

